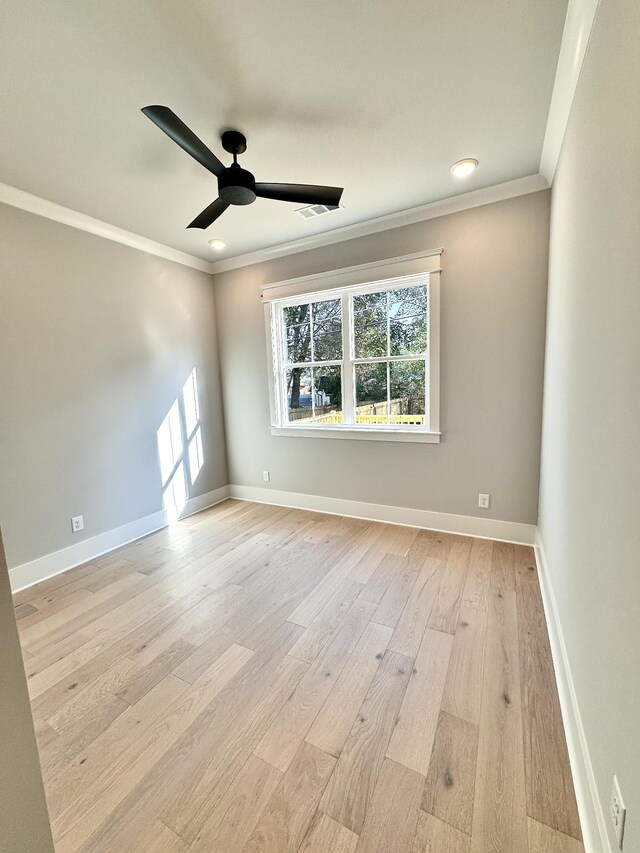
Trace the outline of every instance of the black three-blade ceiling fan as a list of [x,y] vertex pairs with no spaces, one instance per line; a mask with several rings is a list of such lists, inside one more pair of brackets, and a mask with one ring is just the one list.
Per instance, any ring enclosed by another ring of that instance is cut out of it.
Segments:
[[337,207],[340,203],[341,187],[256,183],[251,172],[238,164],[238,154],[247,150],[247,140],[238,130],[225,130],[221,136],[222,147],[233,154],[233,163],[225,166],[169,107],[143,107],[142,112],[218,179],[218,198],[187,228],[208,228],[230,204],[251,204],[258,197],[298,204],[324,204],[327,207]]

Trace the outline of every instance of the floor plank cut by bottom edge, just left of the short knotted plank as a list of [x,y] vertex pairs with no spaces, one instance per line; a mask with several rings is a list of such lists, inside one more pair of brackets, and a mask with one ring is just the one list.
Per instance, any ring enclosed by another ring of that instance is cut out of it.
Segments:
[[356,853],[410,850],[416,834],[424,778],[385,759],[367,810]]

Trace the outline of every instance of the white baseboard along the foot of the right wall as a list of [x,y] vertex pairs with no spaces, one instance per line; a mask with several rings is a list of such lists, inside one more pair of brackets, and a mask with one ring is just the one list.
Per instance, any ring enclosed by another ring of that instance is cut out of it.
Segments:
[[585,853],[612,853],[539,530],[536,534],[535,554]]

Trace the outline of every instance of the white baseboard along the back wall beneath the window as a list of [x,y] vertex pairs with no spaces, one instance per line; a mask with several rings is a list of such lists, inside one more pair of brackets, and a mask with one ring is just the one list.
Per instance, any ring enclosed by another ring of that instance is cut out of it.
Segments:
[[429,530],[441,530],[445,533],[477,536],[481,539],[499,539],[524,545],[533,545],[535,542],[536,528],[533,524],[500,521],[495,518],[476,518],[471,515],[451,515],[446,512],[385,506],[384,504],[327,498],[320,495],[304,495],[298,492],[281,492],[255,486],[230,486],[229,489],[230,497],[239,498],[243,501],[288,506],[293,509],[309,509],[314,512],[326,512],[330,515],[346,515],[368,521],[384,521],[388,524],[405,524],[408,527],[423,527]]

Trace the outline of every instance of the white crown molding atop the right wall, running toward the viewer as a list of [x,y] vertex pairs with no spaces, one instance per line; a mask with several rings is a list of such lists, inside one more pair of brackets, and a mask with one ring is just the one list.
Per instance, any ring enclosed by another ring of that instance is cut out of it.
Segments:
[[553,84],[540,172],[553,183],[599,0],[569,0]]

